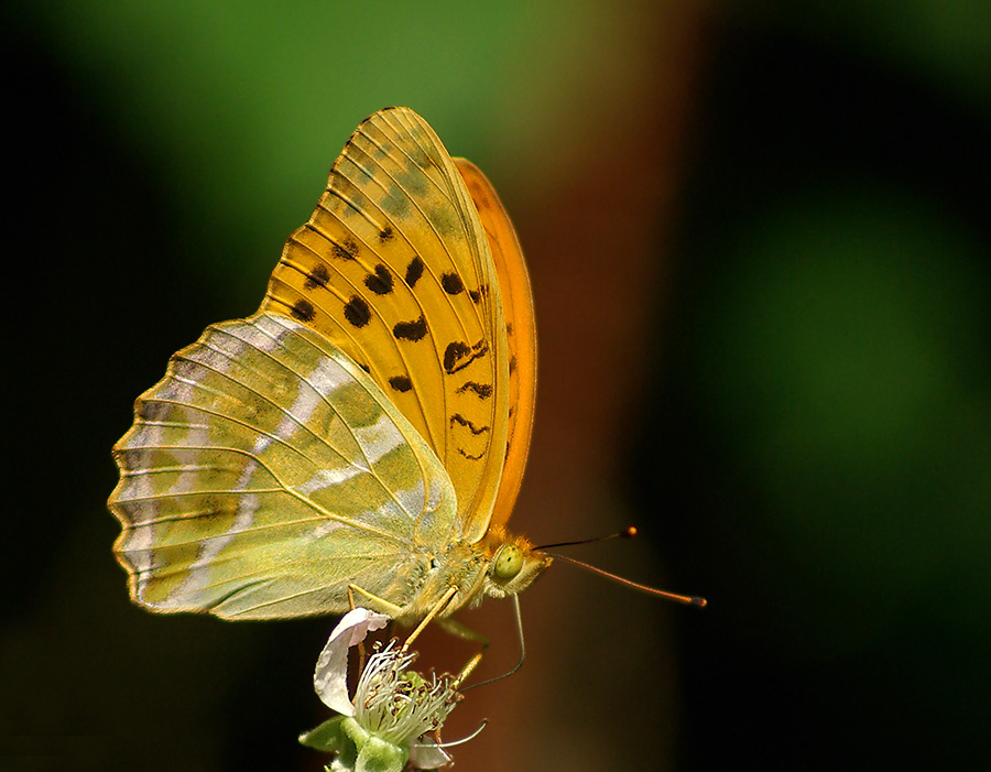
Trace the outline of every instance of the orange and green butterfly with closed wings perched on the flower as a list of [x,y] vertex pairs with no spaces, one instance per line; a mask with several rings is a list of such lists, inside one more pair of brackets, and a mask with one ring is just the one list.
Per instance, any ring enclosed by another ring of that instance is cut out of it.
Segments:
[[515,595],[530,279],[494,188],[407,108],[366,119],[261,307],[138,398],[109,508],[132,599],[225,619],[403,622]]

